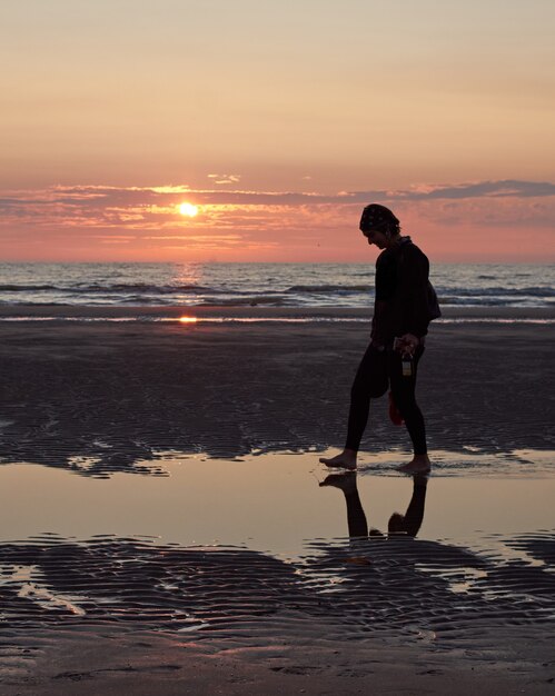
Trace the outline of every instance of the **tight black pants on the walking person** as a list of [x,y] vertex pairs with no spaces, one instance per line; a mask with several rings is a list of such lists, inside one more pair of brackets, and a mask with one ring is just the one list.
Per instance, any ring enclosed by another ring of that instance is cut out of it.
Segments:
[[358,451],[360,439],[368,422],[370,399],[378,398],[390,386],[395,405],[403,416],[415,455],[425,455],[426,429],[416,402],[416,374],[424,347],[418,346],[413,359],[413,375],[403,376],[402,357],[393,349],[378,350],[368,346],[358,367],[350,390],[350,409],[346,449]]

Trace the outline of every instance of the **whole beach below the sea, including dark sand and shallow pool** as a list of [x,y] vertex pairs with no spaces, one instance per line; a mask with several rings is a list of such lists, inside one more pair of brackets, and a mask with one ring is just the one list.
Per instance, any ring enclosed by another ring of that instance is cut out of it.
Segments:
[[416,498],[385,399],[369,537],[317,463],[365,312],[0,317],[2,694],[553,693],[553,312],[432,328],[416,539],[387,535]]

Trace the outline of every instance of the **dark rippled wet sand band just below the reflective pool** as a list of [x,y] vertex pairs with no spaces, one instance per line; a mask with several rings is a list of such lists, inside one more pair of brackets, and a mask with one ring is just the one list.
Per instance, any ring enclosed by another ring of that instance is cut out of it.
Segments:
[[249,645],[299,632],[464,639],[555,622],[555,531],[476,548],[407,538],[307,543],[295,560],[242,547],[53,535],[0,546],[2,634],[76,625]]

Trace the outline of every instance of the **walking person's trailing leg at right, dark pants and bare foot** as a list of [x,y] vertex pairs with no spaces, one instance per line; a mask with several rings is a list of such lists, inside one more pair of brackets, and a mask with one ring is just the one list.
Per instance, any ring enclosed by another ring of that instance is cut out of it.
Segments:
[[416,401],[418,361],[423,352],[424,348],[422,346],[418,347],[413,359],[413,375],[410,377],[403,375],[402,357],[398,352],[388,351],[387,356],[393,398],[405,420],[414,448],[413,459],[403,467],[399,467],[403,471],[429,471],[430,468],[426,445],[426,427],[424,417]]

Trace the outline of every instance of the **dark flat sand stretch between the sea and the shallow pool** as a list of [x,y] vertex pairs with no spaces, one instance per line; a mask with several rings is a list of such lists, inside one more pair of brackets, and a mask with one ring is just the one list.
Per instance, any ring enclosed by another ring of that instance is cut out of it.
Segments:
[[[163,475],[168,450],[235,458],[343,445],[368,339],[349,324],[24,324],[4,326],[0,344],[0,463],[93,477]],[[553,327],[535,331],[532,351],[528,328],[434,328],[418,386],[432,449],[555,449]],[[363,449],[408,449],[385,400],[370,422]]]

